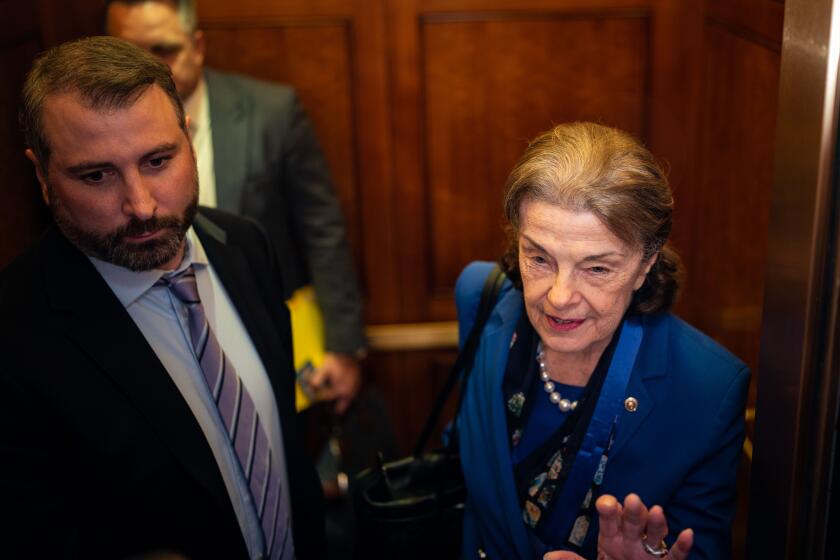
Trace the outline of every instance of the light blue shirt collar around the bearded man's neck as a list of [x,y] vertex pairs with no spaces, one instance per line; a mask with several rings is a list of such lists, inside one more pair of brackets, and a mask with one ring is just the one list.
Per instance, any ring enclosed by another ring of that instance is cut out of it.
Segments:
[[88,256],[88,258],[108,286],[110,286],[117,299],[120,300],[120,303],[123,304],[123,307],[128,307],[145,294],[149,288],[154,286],[155,282],[160,280],[162,276],[173,276],[182,272],[190,265],[193,265],[195,268],[204,268],[207,266],[207,253],[204,252],[204,247],[201,245],[201,241],[198,239],[192,227],[187,230],[184,240],[184,258],[181,260],[178,268],[171,271],[154,268],[152,270],[135,272],[96,257]]

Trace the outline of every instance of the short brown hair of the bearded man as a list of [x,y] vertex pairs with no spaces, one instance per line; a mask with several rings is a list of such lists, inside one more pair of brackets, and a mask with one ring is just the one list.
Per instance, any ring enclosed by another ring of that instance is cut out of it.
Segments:
[[130,107],[159,86],[186,131],[184,106],[169,67],[143,49],[115,37],[87,37],[54,47],[35,60],[23,85],[20,125],[26,145],[47,173],[50,146],[44,134],[44,102],[50,95],[77,94],[90,109]]

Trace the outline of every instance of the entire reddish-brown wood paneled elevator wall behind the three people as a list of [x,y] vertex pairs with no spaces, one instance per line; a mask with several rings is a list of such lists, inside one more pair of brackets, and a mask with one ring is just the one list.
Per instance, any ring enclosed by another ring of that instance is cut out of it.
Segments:
[[[13,104],[35,52],[96,32],[100,5],[0,1],[0,266],[44,223]],[[452,287],[505,239],[527,141],[595,120],[670,169],[678,311],[755,371],[783,3],[774,0],[201,0],[208,62],[293,84],[347,217],[370,324],[455,318]],[[416,437],[452,352],[379,353],[398,436]]]

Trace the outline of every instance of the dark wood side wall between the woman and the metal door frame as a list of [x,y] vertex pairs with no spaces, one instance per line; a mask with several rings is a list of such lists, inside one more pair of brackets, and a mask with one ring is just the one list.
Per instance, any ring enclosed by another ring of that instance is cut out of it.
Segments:
[[742,558],[755,426],[784,5],[712,0],[703,21],[698,145],[677,193],[687,269],[678,311],[750,366],[733,555]]

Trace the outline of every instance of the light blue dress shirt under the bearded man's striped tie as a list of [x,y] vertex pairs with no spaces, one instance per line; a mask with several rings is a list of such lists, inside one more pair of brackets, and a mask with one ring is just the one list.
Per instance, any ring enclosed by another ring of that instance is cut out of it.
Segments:
[[[161,276],[177,274],[192,264],[198,294],[210,328],[254,401],[260,421],[266,427],[272,456],[279,462],[283,488],[288,489],[283,433],[271,381],[248,331],[207,260],[198,236],[192,228],[189,229],[184,259],[175,271],[134,272],[94,257],[89,258],[125,306],[190,407],[213,450],[248,552],[251,558],[263,558],[265,543],[260,520],[248,481],[239,466],[236,451],[193,351],[187,308],[168,288],[154,285]],[[127,356],[126,359],[131,357]],[[291,511],[288,496],[288,491],[282,493],[286,511]]]

